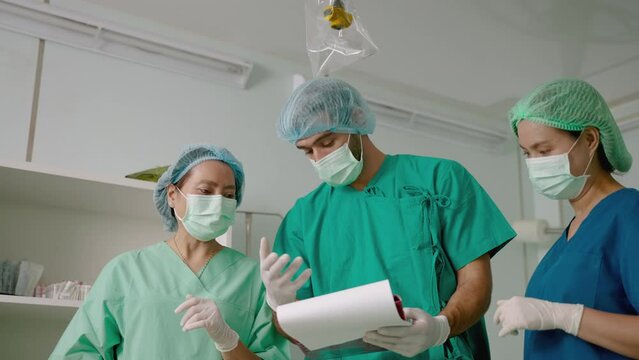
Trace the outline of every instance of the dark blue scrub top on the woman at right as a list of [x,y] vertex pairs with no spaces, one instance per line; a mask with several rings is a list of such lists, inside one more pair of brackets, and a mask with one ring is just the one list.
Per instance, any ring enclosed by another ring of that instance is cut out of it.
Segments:
[[[639,312],[639,191],[603,199],[574,236],[567,231],[535,270],[527,297],[583,304],[600,311]],[[626,359],[561,330],[526,331],[524,359]]]

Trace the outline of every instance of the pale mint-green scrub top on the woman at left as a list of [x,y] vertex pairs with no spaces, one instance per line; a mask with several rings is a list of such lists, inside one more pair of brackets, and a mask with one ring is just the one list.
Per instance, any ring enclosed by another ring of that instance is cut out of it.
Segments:
[[263,359],[289,359],[272,324],[259,265],[225,248],[198,278],[165,242],[117,256],[102,270],[50,359],[222,359],[206,330],[183,332],[186,295],[215,301]]

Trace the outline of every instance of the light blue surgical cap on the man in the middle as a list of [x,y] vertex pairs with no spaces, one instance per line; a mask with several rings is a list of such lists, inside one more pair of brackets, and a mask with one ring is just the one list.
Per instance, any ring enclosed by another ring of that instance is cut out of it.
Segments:
[[277,135],[291,143],[331,131],[372,134],[375,114],[362,95],[345,81],[317,78],[300,85],[282,109]]

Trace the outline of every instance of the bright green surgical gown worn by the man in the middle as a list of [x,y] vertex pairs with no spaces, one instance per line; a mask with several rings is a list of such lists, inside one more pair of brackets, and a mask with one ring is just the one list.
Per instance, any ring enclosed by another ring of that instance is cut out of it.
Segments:
[[[455,271],[495,255],[513,237],[495,203],[459,163],[388,155],[362,191],[322,184],[299,199],[274,251],[301,256],[300,271],[313,270],[299,299],[389,279],[404,306],[437,315],[455,292]],[[386,351],[349,358],[398,357]],[[489,359],[483,319],[418,358]]]

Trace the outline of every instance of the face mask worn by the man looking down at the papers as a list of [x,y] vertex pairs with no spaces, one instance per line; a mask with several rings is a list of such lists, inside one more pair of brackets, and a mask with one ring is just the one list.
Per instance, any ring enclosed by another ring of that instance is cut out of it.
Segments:
[[364,167],[364,149],[363,146],[361,146],[361,135],[361,153],[359,160],[353,156],[351,149],[348,147],[350,139],[351,137],[349,135],[348,141],[346,141],[344,145],[319,161],[311,160],[311,164],[313,164],[319,178],[331,186],[339,187],[350,185],[359,177],[359,174],[362,173],[362,168]]

